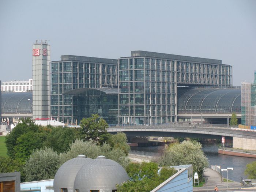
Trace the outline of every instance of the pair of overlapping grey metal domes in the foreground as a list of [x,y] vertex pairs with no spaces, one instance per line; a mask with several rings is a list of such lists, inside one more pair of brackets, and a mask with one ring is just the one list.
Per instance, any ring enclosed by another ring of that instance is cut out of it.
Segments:
[[96,159],[78,155],[65,162],[54,177],[54,192],[113,192],[116,184],[128,181],[124,168],[104,156]]

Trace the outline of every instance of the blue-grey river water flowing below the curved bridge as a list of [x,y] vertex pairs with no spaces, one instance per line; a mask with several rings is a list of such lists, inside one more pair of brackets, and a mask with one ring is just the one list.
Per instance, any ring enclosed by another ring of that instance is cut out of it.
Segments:
[[[133,150],[151,151],[161,153],[163,146],[155,147],[132,147]],[[229,170],[228,177],[230,180],[240,182],[241,177],[247,178],[244,175],[246,164],[256,161],[256,158],[236,157],[231,155],[218,154],[218,145],[216,143],[203,144],[203,152],[208,158],[210,165],[221,165],[222,169],[227,167],[234,167],[234,170]],[[223,177],[227,177],[226,171],[222,173]]]

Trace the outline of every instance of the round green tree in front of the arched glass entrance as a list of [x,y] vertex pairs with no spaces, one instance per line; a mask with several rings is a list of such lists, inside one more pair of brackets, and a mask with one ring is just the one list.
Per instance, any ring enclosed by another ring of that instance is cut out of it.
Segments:
[[89,118],[83,118],[80,123],[84,140],[94,140],[97,143],[104,143],[108,128],[108,123],[103,118],[99,118],[98,114],[92,114]]

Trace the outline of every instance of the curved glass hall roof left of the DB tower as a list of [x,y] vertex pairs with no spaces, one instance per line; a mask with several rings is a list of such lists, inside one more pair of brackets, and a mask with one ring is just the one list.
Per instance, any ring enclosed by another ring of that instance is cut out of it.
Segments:
[[33,113],[32,91],[2,93],[2,113]]

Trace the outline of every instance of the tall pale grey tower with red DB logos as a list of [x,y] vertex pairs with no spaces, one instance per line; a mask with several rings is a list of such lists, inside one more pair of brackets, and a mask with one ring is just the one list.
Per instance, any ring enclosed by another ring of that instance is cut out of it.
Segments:
[[50,45],[32,45],[33,119],[50,118]]

